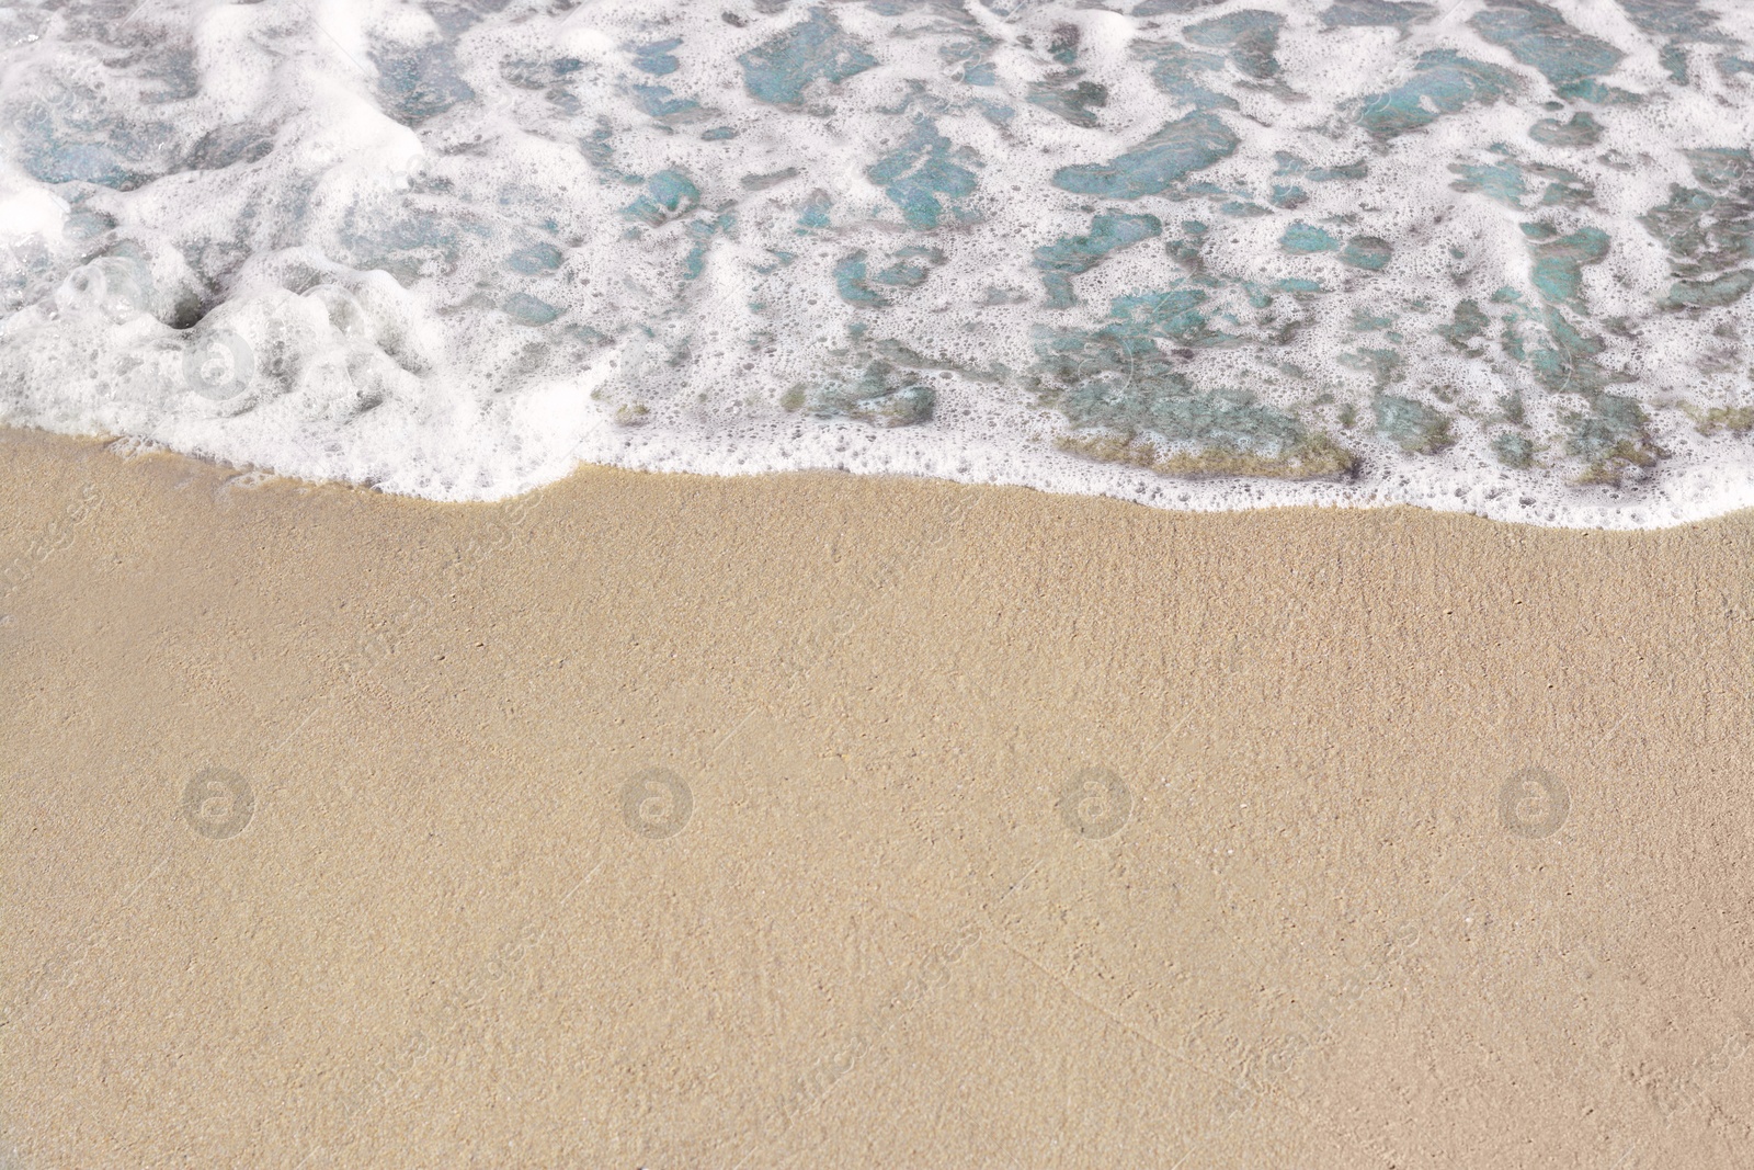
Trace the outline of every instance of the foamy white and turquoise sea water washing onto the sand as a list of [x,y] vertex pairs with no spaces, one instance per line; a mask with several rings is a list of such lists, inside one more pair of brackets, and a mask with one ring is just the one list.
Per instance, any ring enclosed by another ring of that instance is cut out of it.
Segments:
[[1754,5],[70,0],[0,46],[11,424],[437,500],[1754,505]]

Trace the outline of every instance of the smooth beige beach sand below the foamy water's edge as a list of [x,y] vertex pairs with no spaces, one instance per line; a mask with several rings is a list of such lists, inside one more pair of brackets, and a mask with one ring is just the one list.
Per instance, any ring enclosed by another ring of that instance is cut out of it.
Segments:
[[4,1166],[1754,1163],[1754,516],[0,468]]

